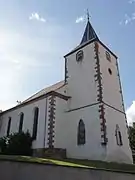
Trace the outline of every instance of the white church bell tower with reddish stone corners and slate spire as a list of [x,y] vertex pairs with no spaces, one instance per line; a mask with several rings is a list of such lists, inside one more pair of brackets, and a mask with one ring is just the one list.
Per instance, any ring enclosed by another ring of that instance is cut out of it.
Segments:
[[100,41],[89,17],[81,43],[65,55],[65,83],[71,97],[68,156],[132,163],[118,58]]

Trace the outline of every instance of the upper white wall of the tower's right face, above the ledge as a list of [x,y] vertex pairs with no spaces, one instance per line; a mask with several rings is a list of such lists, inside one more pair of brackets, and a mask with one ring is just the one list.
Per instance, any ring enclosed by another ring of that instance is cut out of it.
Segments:
[[[99,44],[99,59],[100,71],[102,74],[103,85],[103,101],[120,111],[123,111],[122,98],[120,93],[120,83],[117,70],[117,59],[111,53],[111,62],[106,58],[107,49]],[[111,69],[112,75],[109,74],[108,69]]]

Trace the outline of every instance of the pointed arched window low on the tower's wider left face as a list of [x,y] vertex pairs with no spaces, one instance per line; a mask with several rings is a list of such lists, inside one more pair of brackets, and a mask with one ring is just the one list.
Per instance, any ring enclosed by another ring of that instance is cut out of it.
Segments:
[[84,145],[85,140],[85,124],[82,119],[80,119],[78,124],[78,134],[77,134],[77,144]]

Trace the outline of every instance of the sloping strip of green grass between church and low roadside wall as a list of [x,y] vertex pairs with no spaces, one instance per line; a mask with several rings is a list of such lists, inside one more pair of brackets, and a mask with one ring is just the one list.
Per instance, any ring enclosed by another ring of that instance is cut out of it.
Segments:
[[40,163],[40,164],[50,164],[68,167],[79,167],[87,169],[100,169],[107,171],[117,171],[117,172],[129,172],[135,173],[135,165],[129,164],[119,164],[119,163],[107,163],[103,161],[92,161],[92,160],[77,160],[77,159],[65,159],[65,160],[55,160],[55,159],[44,159],[36,157],[27,156],[7,156],[0,155],[0,161],[18,161],[26,163]]

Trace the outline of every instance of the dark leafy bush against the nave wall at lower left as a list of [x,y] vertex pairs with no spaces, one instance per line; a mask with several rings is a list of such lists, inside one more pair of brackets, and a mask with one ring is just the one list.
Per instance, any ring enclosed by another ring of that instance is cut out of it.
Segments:
[[32,138],[29,132],[14,133],[0,138],[1,154],[32,155]]

